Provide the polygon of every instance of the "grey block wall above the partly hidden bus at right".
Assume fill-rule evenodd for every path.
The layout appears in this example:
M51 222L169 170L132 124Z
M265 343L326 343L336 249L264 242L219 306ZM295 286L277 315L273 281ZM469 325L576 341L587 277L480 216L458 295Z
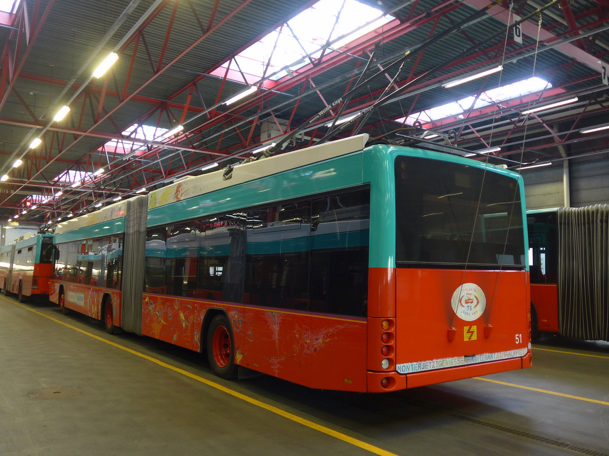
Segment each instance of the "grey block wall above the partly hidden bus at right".
M561 165L523 171L527 209L565 206ZM609 161L569 163L571 207L609 203Z

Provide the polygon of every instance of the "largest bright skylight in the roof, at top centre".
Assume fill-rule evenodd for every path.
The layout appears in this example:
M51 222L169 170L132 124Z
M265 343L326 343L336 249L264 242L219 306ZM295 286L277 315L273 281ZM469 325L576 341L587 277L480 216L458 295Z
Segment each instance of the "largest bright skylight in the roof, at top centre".
M340 38L332 47L344 46L393 19L392 16L382 16L380 10L357 0L345 0L341 9L342 3L336 0L320 0L290 19L287 22L289 27L284 25L273 30L262 40L222 64L214 74L224 75L224 69L229 68L234 71L234 80L251 84L253 81L244 81L239 70L256 78L278 72L270 78L277 80L287 74L280 71L282 68L290 66L290 69L295 71L308 63L306 55L319 57L326 43Z

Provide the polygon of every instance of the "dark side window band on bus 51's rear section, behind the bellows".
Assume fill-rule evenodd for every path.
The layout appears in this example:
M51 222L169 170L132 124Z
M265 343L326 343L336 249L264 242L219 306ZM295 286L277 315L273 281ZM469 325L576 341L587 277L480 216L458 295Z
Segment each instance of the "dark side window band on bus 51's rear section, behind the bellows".
M369 225L366 189L149 229L146 290L365 316Z

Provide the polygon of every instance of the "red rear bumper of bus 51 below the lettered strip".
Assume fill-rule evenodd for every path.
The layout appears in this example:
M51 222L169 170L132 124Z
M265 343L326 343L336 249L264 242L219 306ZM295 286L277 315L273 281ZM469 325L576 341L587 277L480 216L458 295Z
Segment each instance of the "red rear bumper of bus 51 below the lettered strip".
M388 391L416 388L436 383L463 380L481 375L495 374L508 370L523 369L532 366L531 353L522 358L502 359L501 361L483 362L481 364L469 364L459 367L448 367L445 369L430 370L424 372L400 374L393 372L370 372L368 371L368 392L382 393ZM389 388L381 386L381 380L389 377L393 379Z

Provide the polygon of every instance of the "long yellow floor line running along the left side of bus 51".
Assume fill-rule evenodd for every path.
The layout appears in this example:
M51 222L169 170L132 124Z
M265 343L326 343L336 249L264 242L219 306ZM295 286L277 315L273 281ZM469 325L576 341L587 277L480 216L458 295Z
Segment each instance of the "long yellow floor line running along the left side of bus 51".
M8 301L8 300L7 300L7 302L13 303L12 301ZM323 434L337 438L338 440L342 440L346 443L350 443L353 446L357 446L362 449L365 449L373 454L378 454L381 456L397 456L396 454L389 452L389 451L385 451L382 448L376 447L369 443L365 443L364 441L361 441L361 440L357 440L356 438L349 437L348 435L342 434L341 432L338 432L334 429L330 429L329 427L322 426L321 424L317 424L317 423L314 423L313 421L306 420L305 418L301 418L300 416L294 415L293 413L286 412L285 410L281 410L278 407L271 406L269 404L266 404L265 402L258 401L258 399L250 398L250 396L246 396L242 393L231 390L230 388L224 387L220 384L217 384L216 382L210 381L206 378L200 377L198 375L195 375L193 373L190 373L190 372L180 369L178 367L174 367L171 364L167 364L166 362L161 361L160 359L152 358L152 356L148 356L147 354L139 353L139 351L135 351L135 350L132 350L131 348L124 347L123 345L116 344L116 342L111 342L110 340L104 339L104 337L99 337L99 336L96 336L95 334L88 333L87 331L81 330L80 328L77 328L76 326L69 325L68 323L62 322L61 320L57 320L51 316L43 314L42 312L31 309L27 306L21 305L19 303L15 303L15 304L23 307L24 309L32 311L35 314L48 318L49 320L52 320L55 323L59 323L60 325L66 326L66 327L70 328L71 330L78 331L81 334L85 334L86 336L93 337L93 339L100 340L101 342L105 342L106 344L112 345L113 347L120 348L121 350L127 351L128 353L131 353L131 354L135 354L135 356L139 356L140 358L144 358L144 359L147 359L148 361L152 361L155 364L158 364L167 369L171 369L177 373L180 373L181 375L190 377L190 378L192 378L196 381L199 381L201 383L204 383L212 388L215 388L224 393L227 393L235 398L241 399L242 401L249 402L250 404L253 404L254 406L261 407L262 409L268 410L269 412L276 413L276 415L283 416L284 418L287 418L288 420L295 421L295 423L299 423L299 424L302 424L303 426L310 427L311 429L317 430L319 432L322 432Z

